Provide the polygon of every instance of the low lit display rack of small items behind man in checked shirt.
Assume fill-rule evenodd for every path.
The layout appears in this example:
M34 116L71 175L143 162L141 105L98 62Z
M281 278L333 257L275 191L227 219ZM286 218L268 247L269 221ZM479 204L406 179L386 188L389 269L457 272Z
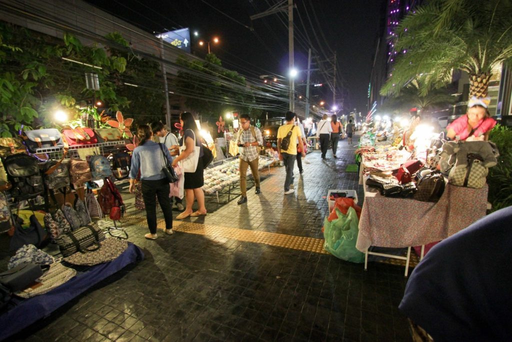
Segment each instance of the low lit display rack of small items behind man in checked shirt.
M273 158L260 155L258 169L268 168L270 175L270 165L274 163ZM250 168L247 169L247 176L251 175ZM231 190L240 182L239 160L238 156L230 157L219 162L210 164L204 170L203 191L206 194L216 194L217 203L219 203L219 193L227 193L228 202L231 198ZM222 192L227 188L227 192Z

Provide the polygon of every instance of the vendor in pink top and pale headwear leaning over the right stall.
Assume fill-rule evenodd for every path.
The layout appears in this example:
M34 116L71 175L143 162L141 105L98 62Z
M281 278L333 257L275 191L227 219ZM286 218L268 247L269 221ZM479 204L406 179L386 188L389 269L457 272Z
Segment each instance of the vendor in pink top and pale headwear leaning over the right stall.
M490 117L489 97L473 96L467 103L467 113L446 127L446 137L454 140L487 140L496 120Z

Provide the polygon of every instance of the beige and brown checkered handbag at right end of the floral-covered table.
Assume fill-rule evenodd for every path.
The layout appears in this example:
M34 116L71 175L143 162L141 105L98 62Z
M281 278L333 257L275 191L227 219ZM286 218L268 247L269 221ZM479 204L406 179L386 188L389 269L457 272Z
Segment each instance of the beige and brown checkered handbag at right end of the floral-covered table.
M467 154L467 167L453 167L448 175L448 183L460 187L480 189L485 186L489 169L483 166L482 157L475 153Z

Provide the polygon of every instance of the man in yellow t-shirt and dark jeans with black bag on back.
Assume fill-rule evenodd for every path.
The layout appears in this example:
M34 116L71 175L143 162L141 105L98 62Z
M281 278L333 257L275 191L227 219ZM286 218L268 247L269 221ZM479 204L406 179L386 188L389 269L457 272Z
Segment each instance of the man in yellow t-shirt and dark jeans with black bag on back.
M290 189L290 186L293 184L293 167L295 166L295 158L297 156L297 138L298 146L303 151L302 156L306 156L306 153L304 152L301 130L293 124L295 113L286 112L285 119L286 124L279 127L278 130L278 154L279 160L283 160L286 168L285 195L287 195L293 193L293 189Z

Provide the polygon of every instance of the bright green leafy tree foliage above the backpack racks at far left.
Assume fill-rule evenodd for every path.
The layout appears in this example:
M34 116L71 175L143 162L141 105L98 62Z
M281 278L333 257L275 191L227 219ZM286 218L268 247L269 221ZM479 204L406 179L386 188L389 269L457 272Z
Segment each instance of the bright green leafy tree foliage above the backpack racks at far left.
M162 112L161 83L155 80L156 63L145 63L129 49L119 33L106 36L110 44L83 46L64 33L62 39L14 25L0 23L0 135L25 129L55 127L53 112L66 108L70 119L82 111L80 104L101 99L112 111L130 117ZM66 59L63 59L66 58ZM81 64L68 61L77 61ZM87 89L85 73L98 75L99 90ZM131 82L129 82L131 81ZM125 83L143 83L127 87ZM126 109L131 109L126 111Z

